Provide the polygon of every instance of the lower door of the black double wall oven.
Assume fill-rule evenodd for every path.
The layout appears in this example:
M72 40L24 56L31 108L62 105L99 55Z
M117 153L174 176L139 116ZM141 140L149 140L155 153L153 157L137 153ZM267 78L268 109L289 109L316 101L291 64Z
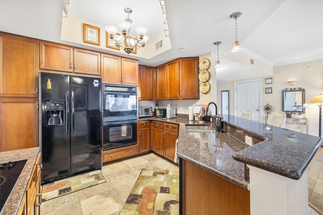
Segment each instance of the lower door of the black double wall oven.
M137 144L137 120L103 122L103 151Z

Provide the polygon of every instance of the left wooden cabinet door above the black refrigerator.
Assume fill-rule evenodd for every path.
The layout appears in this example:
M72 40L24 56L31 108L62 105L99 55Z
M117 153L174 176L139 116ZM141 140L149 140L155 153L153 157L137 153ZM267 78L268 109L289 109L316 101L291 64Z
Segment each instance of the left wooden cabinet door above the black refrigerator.
M40 69L73 73L73 48L50 42L40 42Z

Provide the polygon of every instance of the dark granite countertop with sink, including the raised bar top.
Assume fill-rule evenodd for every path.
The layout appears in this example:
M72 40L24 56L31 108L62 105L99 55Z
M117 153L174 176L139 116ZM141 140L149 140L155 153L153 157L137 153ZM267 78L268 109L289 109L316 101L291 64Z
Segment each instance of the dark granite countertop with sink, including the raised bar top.
M216 173L246 189L245 165L270 171L291 179L300 179L323 139L261 122L224 115L226 126L235 127L260 139L248 147L230 133L189 133L185 124L195 124L182 118L158 117L157 120L179 124L178 156ZM206 125L211 125L209 122Z

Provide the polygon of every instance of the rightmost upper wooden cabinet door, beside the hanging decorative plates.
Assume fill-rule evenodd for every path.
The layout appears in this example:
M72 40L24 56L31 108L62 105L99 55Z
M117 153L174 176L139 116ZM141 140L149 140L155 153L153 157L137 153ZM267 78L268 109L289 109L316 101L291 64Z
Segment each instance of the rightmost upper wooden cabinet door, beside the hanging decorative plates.
M180 98L199 99L198 57L180 59Z

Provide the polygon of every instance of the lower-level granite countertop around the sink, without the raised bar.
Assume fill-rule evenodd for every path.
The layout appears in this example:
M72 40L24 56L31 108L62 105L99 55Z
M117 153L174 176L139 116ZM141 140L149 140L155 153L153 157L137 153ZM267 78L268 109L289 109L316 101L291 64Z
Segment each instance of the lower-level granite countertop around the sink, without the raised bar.
M243 163L233 160L232 156L247 148L237 138L229 133L199 133L187 132L186 124L198 124L183 118L147 117L139 120L156 120L179 125L177 155L210 172L248 189L249 182L245 181ZM201 125L201 124L198 124ZM212 126L210 122L203 125Z

